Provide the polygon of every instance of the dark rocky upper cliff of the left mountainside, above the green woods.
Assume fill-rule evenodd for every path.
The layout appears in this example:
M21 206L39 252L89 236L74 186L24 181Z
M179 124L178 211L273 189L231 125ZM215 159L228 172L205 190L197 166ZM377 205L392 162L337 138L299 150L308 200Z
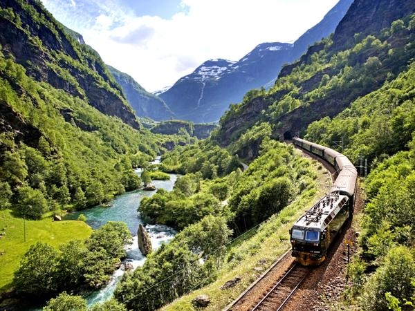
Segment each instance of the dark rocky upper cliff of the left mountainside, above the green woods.
M24 28L17 28L8 18L0 19L0 45L3 53L26 68L26 74L39 82L63 89L68 94L87 100L101 113L119 117L140 129L133 110L122 95L120 86L109 73L98 53L66 32L64 26L44 11L38 1L4 0L1 8L19 12ZM33 19L22 6L32 6L44 22ZM46 26L46 23L48 26ZM39 38L43 46L34 43ZM58 56L57 56L58 55ZM56 68L59 67L59 70Z

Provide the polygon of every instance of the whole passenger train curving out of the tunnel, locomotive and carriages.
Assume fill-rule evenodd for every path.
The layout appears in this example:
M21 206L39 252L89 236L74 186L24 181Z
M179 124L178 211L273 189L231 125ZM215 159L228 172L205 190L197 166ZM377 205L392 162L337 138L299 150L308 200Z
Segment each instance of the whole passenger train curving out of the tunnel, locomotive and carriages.
M320 265L327 256L335 236L353 215L358 171L342 153L293 138L295 146L326 160L335 168L335 181L329 193L306 211L291 227L291 255L302 265Z

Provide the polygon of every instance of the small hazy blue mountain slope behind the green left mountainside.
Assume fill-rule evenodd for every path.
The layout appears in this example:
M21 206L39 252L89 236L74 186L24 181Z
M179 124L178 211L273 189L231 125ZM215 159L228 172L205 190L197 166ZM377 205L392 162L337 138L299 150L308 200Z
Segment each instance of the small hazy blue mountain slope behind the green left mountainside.
M136 111L138 117L149 117L156 121L169 120L174 117L174 113L170 111L160 97L145 91L145 88L126 73L122 73L111 66L108 66L108 68L124 90L129 104Z

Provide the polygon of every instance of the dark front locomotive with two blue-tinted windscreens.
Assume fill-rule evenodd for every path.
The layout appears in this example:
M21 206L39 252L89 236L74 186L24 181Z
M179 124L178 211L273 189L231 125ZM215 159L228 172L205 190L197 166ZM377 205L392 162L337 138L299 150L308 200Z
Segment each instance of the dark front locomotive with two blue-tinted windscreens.
M302 265L320 265L351 211L349 197L332 192L324 196L290 230L291 256Z

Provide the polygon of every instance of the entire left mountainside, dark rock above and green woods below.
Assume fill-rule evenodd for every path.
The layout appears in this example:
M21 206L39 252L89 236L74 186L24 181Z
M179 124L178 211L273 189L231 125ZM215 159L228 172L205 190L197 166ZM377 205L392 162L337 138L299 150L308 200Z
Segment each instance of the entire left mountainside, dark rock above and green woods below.
M0 205L26 218L140 186L163 151L98 53L37 0L0 2ZM170 140L172 138L169 138Z

